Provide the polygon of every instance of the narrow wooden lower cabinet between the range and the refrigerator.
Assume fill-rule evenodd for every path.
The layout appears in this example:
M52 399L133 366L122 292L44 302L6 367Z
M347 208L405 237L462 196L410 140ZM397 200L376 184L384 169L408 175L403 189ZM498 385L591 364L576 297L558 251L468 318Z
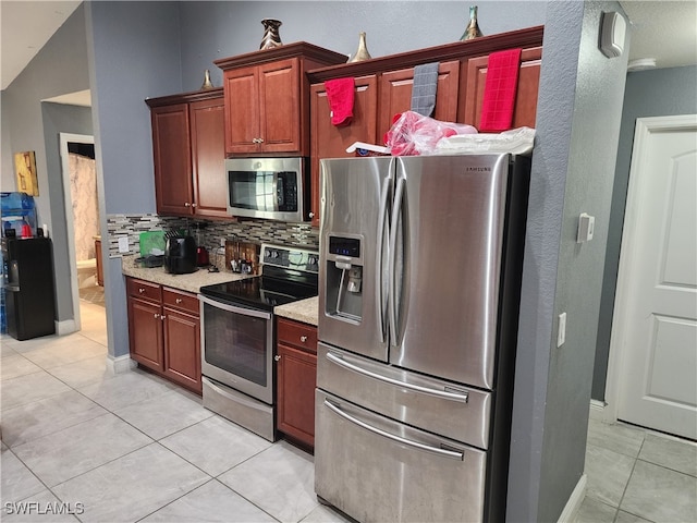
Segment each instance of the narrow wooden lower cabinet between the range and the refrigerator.
M315 447L317 327L277 319L277 426L308 449Z

